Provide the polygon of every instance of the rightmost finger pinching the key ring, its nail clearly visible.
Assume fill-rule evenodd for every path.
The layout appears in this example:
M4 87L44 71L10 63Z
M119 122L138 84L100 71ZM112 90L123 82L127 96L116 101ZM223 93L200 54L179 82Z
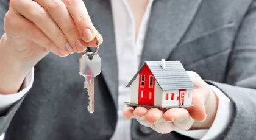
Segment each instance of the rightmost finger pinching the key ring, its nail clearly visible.
M80 36L85 42L89 42L89 46L96 46L95 35L99 36L99 44L102 43L101 35L96 31L90 16L88 15L84 1L82 0L62 0L66 5L70 15L74 19Z

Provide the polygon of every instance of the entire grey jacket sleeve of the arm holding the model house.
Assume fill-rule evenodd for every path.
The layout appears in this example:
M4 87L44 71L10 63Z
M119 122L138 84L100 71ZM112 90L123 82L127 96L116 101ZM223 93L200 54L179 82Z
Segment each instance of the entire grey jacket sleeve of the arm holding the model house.
M221 89L235 105L232 122L219 139L256 139L255 0L240 24L226 72L224 83L207 81Z

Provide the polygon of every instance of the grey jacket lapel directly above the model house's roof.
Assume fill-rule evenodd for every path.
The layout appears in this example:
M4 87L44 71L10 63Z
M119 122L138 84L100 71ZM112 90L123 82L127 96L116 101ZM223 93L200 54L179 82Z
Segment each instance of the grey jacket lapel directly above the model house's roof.
M202 0L155 0L144 42L144 61L167 59L190 26Z

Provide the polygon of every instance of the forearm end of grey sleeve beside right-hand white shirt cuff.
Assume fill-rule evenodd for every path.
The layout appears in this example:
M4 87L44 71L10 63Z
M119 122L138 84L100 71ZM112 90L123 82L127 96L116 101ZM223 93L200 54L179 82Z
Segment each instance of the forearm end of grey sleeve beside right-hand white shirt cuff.
M210 85L219 88L233 103L233 118L229 123L226 131L224 131L219 139L255 139L256 125L256 90L250 88L243 88L239 86L232 86L225 83L213 82L211 80L205 80ZM246 131L244 130L246 128ZM232 136L229 138L227 136Z

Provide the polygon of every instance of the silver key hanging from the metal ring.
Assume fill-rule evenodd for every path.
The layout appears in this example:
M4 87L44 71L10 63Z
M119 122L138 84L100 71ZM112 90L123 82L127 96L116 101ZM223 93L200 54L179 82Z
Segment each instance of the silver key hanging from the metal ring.
M85 77L84 88L88 90L88 111L94 112L94 78L101 73L101 57L98 54L90 56L93 52L87 52L79 60L79 73Z

